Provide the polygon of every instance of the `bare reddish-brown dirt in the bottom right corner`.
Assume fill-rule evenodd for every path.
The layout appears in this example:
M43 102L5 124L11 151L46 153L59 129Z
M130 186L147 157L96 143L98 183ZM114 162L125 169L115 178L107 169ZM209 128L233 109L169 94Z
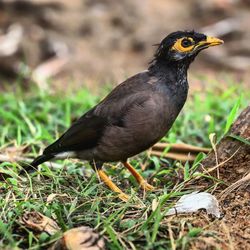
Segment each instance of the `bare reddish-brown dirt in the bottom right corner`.
M247 170L246 170L247 171ZM216 191L223 191L218 188ZM212 220L207 214L187 219L194 227L205 227L191 249L248 249L250 246L250 189L243 187L219 200L222 216Z

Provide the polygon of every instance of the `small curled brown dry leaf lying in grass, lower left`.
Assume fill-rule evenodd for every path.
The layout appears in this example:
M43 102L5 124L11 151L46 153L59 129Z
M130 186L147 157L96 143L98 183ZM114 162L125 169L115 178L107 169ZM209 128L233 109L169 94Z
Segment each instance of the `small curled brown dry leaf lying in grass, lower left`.
M54 220L36 211L26 212L21 218L21 223L35 231L46 232L50 235L60 231L60 227Z

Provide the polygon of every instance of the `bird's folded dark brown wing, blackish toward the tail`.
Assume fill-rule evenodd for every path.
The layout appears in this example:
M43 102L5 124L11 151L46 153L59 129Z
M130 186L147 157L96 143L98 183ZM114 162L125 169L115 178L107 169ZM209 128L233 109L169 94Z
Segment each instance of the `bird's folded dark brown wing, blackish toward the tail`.
M150 84L148 74L140 73L118 85L102 102L92 108L53 144L44 154L86 150L95 147L105 128L122 126L125 113L134 105L140 105L149 97L143 94Z

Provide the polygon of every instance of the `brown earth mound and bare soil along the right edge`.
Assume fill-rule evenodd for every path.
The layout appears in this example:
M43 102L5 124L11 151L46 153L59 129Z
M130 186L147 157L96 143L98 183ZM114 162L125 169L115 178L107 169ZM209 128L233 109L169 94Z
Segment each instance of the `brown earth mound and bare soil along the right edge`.
M242 111L229 134L249 140L249 118L250 106ZM192 248L248 249L250 246L250 178L246 177L250 174L250 146L226 137L217 145L216 152L218 162L225 163L210 172L210 176L222 181L213 191L219 200L222 218L211 222L207 216L204 217L204 214L195 216L192 224L196 227L205 226L207 232L203 233L197 242L193 242ZM202 165L205 169L216 166L215 153L211 152L203 160ZM236 182L239 184L235 185ZM206 189L214 183L212 179L201 179L196 184Z

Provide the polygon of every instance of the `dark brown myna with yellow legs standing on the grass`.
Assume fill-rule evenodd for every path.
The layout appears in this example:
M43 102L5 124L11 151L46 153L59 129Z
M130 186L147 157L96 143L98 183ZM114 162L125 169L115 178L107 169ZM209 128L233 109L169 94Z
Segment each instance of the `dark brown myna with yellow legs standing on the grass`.
M190 64L200 51L222 43L195 31L170 33L158 44L147 70L117 85L30 165L66 158L89 161L100 180L126 202L130 197L102 168L104 163L122 162L140 187L154 190L128 159L167 134L187 99Z

